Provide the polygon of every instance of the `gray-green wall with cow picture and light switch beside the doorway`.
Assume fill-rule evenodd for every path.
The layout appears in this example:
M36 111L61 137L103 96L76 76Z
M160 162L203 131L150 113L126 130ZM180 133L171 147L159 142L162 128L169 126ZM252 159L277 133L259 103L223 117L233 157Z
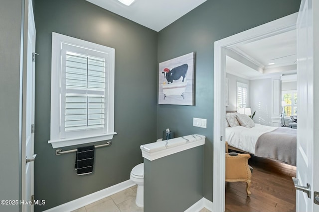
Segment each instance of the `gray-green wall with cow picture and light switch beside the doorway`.
M158 62L195 52L195 106L158 105L157 135L169 127L177 136L206 136L204 197L213 191L214 42L299 10L300 0L207 0L159 33ZM207 129L192 126L207 119Z

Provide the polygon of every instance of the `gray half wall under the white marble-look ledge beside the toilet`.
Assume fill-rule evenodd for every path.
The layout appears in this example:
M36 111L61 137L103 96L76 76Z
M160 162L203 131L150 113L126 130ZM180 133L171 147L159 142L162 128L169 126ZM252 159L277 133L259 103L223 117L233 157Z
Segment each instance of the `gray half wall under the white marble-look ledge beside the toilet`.
M183 212L203 197L203 146L144 159L144 169L144 212Z

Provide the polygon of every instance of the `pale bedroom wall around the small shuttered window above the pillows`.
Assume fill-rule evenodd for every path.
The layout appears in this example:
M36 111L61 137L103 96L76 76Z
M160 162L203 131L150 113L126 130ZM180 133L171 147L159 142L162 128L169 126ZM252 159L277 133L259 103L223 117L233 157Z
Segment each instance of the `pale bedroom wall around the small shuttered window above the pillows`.
M247 107L250 107L250 80L226 73L226 78L229 79L229 90L228 90L228 107L226 107L226 111L237 110L237 82L242 82L248 84L248 99L247 99Z

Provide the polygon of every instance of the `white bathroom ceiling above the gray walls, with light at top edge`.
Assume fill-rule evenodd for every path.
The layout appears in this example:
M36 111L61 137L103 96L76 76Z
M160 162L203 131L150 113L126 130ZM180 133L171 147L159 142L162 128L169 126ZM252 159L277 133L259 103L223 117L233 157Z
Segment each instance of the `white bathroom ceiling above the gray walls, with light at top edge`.
M135 0L126 6L118 0L87 0L157 32L206 0Z

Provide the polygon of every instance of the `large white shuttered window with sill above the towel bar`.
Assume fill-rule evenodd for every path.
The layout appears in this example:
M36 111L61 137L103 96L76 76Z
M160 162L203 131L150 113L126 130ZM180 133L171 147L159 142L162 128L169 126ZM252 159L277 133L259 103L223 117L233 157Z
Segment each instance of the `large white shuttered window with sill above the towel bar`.
M111 140L114 132L114 49L52 34L53 148Z

